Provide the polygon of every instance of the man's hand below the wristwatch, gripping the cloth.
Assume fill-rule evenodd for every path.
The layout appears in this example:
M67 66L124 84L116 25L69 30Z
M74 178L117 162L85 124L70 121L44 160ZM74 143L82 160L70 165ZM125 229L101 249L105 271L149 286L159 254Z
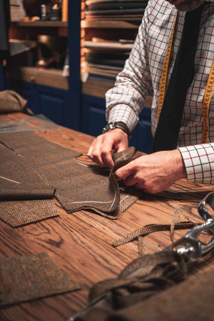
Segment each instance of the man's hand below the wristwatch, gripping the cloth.
M102 167L113 167L111 151L122 152L128 148L128 135L119 128L99 135L91 144L87 156Z

